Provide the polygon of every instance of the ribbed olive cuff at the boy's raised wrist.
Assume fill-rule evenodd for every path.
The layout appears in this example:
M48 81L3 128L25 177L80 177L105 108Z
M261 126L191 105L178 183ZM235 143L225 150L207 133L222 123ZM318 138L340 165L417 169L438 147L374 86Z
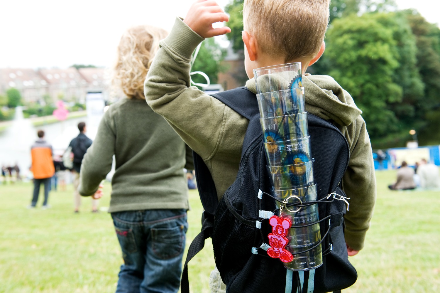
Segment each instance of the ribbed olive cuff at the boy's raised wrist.
M182 19L176 17L171 32L161 41L161 45L166 45L185 59L191 59L195 48L203 40L205 38L191 30Z

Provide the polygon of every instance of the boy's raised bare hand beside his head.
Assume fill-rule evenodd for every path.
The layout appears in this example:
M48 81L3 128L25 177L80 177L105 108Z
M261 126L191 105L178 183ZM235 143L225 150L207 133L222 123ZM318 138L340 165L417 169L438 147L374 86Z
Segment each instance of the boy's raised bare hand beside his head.
M191 5L187 16L183 19L183 22L185 22L191 30L194 30L194 32L204 38L230 33L231 29L227 26L213 28L212 24L214 22L225 21L229 21L229 17L223 12L215 0L197 0Z

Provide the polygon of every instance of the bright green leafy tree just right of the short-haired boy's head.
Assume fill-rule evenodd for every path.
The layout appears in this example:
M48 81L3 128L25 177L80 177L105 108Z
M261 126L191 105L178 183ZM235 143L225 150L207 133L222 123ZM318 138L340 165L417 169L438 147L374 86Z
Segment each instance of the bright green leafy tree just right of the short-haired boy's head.
M363 111L373 143L390 134L403 143L422 120L417 104L424 85L416 53L416 40L401 14L352 14L335 19L327 32L327 73Z

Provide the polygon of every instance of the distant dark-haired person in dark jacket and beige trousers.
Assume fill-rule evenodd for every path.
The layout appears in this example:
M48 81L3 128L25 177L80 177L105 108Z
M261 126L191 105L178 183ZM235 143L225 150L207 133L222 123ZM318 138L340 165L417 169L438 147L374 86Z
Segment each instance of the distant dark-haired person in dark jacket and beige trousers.
M79 213L79 208L81 205L81 196L78 192L78 185L80 184L80 171L81 171L81 163L84 158L87 149L92 145L92 140L85 135L87 131L87 126L85 122L78 123L78 130L80 133L77 137L73 138L70 141L69 147L71 148L71 152L73 154L73 200L75 204L75 213ZM98 212L98 200L92 199L92 212Z

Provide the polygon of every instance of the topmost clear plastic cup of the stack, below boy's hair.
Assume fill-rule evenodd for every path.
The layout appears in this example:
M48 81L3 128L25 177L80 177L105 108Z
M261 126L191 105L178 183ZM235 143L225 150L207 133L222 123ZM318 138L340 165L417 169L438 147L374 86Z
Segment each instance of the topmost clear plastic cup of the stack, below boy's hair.
M253 70L257 93L302 87L301 63L287 63Z

